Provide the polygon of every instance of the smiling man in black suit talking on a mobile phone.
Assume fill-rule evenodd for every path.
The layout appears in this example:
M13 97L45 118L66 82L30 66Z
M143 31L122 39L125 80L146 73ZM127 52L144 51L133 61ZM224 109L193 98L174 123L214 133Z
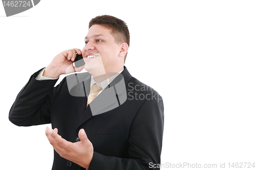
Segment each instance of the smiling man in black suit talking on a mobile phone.
M159 169L150 165L160 164L163 101L124 66L130 45L126 23L97 16L85 42L82 51L64 51L30 77L10 121L52 124L46 129L54 148L52 169ZM86 62L79 68L73 66L76 53ZM60 75L82 68L88 72L67 76L54 87Z

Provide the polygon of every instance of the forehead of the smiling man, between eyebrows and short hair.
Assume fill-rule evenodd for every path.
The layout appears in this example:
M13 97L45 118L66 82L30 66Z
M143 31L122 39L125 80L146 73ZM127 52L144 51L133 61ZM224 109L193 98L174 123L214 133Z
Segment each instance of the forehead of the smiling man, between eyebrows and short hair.
M107 29L100 25L93 25L90 27L85 39L95 38L95 37L113 37L110 29ZM114 37L113 37L114 38Z

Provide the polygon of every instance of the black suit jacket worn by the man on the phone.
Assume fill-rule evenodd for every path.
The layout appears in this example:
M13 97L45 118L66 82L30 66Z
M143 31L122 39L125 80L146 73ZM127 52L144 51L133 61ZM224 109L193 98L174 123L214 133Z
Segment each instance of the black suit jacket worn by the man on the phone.
M57 80L35 79L39 71L30 77L11 107L9 119L13 124L51 123L53 129L58 128L62 138L71 142L79 141L78 131L84 129L94 147L89 170L159 169L150 167L160 164L164 114L162 98L153 88L132 77L124 67L121 74L127 99L122 104L118 101L119 106L112 110L93 115L91 104L86 108L87 95L71 95L72 89L88 93L90 81L77 82L72 89L67 83L72 76L91 77L88 72L67 76L54 87ZM112 86L113 83L106 89ZM54 151L52 169L84 168Z

